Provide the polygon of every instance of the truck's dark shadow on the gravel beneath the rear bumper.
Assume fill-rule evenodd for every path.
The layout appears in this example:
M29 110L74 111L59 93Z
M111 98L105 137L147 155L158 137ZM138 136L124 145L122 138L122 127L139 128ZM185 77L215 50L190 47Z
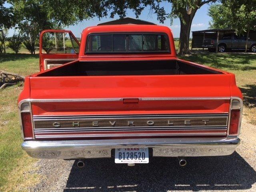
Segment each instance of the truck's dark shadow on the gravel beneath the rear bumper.
M230 156L190 157L185 167L176 158L150 158L149 164L115 164L113 158L72 166L64 192L242 190L256 182L255 170L236 152Z

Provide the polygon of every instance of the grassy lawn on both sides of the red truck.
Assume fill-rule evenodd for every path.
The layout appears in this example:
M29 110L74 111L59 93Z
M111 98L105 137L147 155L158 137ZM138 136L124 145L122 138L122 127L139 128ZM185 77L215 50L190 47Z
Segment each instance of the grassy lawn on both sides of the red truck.
M236 74L236 81L244 94L244 116L256 124L256 55L243 53L215 54L200 52L183 59L206 64ZM0 54L0 70L29 75L39 71L38 55ZM26 186L39 180L33 163L20 144L20 125L17 99L22 84L0 90L0 191L26 191ZM26 178L24 177L24 173Z

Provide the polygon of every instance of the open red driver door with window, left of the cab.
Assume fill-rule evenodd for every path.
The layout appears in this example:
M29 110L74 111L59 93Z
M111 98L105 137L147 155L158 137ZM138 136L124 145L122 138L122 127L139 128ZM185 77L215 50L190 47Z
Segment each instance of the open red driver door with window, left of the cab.
M68 30L44 30L40 33L40 71L78 59L80 43Z

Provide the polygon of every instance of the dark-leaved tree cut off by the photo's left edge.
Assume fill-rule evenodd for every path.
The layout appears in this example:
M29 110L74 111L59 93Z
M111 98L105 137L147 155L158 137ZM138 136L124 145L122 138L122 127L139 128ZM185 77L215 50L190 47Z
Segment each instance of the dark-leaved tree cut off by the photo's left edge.
M6 8L4 6L5 0L0 0L0 32L1 32L1 50L6 53L6 47L5 47L5 41L6 36L5 32L8 31L8 29L13 26L14 24L14 16L12 14L12 7Z

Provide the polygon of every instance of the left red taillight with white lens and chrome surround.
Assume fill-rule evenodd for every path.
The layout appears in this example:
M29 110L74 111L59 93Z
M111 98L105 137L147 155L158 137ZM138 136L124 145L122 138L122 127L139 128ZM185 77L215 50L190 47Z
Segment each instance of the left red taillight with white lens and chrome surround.
M33 138L33 127L31 121L30 103L24 102L19 106L20 109L20 124L22 127L22 133L24 139Z

